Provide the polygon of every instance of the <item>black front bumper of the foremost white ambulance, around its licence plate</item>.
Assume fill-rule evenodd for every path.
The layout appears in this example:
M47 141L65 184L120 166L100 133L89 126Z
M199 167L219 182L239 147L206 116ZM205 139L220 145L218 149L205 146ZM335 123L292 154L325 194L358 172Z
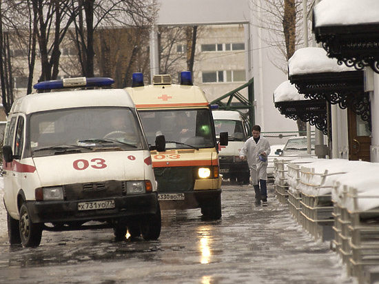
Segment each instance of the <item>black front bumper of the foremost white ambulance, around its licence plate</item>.
M100 210L79 210L78 203L96 200L76 201L26 201L33 223L65 221L105 221L106 219L156 214L158 199L156 192L133 196L110 196L100 200L114 200L114 208ZM98 200L98 201L100 201Z

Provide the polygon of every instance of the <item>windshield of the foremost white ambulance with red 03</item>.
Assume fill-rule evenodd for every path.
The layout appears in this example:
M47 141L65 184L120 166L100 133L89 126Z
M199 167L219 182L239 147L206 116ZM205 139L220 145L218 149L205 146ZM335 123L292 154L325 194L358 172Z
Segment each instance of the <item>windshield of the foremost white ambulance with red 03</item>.
M33 156L104 150L141 150L139 122L130 108L73 108L30 116Z

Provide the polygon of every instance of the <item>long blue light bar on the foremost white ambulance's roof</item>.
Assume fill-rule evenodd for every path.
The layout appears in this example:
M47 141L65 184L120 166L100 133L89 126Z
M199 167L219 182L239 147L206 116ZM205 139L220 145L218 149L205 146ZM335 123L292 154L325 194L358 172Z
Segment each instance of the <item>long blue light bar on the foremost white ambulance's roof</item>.
M77 77L65 78L61 80L43 81L33 85L36 90L54 90L76 87L107 87L114 83L114 80L106 77Z

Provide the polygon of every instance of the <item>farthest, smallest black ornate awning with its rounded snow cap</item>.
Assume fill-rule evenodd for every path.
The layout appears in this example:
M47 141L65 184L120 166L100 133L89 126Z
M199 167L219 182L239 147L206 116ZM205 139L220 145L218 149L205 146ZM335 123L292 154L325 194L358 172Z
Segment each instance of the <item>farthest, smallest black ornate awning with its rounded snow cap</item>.
M274 91L274 105L280 114L289 119L309 122L327 134L327 101L306 99L289 80L284 81Z

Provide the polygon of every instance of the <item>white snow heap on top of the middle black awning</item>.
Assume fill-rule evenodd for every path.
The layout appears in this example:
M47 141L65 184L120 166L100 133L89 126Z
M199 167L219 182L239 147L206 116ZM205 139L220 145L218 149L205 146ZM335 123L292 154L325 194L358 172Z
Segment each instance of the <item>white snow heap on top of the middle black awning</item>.
M288 60L288 76L324 72L355 71L354 67L338 65L337 59L327 57L323 48L300 48Z

